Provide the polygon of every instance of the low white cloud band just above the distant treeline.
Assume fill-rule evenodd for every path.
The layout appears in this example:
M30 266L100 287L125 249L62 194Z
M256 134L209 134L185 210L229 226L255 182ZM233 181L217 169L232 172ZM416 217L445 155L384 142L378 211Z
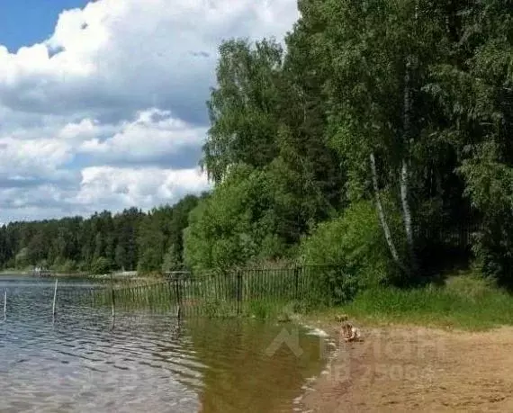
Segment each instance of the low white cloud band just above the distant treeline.
M206 175L198 168L90 166L67 187L62 183L42 183L31 188L0 186L0 209L4 222L31 220L34 216L90 215L94 211L121 211L130 206L149 210L209 188Z

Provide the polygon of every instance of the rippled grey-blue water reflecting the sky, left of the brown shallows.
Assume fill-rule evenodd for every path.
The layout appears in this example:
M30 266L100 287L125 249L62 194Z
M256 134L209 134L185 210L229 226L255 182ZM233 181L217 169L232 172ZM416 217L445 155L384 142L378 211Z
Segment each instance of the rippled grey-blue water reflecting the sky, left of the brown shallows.
M203 365L188 353L191 342L169 315L119 314L112 329L108 310L61 298L54 323L51 285L6 286L7 319L0 325L2 412L199 409L193 388L201 387Z

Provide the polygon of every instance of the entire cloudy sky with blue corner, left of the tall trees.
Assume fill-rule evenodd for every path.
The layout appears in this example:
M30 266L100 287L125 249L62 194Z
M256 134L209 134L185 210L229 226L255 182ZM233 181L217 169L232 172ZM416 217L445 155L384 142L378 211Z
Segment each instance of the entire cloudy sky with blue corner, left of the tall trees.
M198 167L221 40L282 40L296 0L0 0L0 223L144 211Z

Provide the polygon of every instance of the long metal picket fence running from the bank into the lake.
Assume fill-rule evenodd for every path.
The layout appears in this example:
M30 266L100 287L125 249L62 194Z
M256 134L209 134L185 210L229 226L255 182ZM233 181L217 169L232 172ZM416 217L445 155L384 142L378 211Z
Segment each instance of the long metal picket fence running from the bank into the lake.
M249 268L211 274L168 274L163 279L113 279L72 292L74 300L118 310L174 310L180 316L258 315L273 306L311 305L322 300L320 271L334 266ZM62 292L58 292L58 297Z

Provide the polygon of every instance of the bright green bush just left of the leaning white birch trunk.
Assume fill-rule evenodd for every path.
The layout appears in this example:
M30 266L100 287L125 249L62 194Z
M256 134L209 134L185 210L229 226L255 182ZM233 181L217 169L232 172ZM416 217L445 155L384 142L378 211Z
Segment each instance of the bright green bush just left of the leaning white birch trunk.
M354 203L339 218L321 223L300 251L303 264L319 265L315 288L325 301L347 301L361 289L393 281L394 266L371 202Z

